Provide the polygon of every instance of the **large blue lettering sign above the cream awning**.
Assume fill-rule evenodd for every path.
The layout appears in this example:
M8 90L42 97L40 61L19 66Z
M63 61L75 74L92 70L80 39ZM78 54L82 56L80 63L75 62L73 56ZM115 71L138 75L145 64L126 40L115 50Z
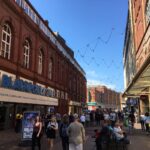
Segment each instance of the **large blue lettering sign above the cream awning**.
M50 89L43 88L39 85L34 85L32 83L23 81L21 79L16 79L15 81L12 81L12 78L7 75L2 76L1 86L4 88L38 94L38 95L42 95L42 96L48 96L48 97L53 96L53 91Z

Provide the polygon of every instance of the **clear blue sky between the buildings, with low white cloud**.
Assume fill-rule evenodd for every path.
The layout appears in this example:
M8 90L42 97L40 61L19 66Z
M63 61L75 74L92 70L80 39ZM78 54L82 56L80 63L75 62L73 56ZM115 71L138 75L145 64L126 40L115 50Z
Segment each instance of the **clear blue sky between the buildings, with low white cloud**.
M128 0L30 0L66 40L89 85L123 91L123 44Z

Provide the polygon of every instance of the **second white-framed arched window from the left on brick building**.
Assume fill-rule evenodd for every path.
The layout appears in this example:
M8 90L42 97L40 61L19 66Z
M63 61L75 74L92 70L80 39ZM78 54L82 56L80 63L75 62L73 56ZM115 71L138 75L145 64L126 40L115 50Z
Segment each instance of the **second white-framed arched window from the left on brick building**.
M25 68L29 68L29 64L30 64L30 43L28 40L25 40L25 44L24 44L24 55L23 55L23 66Z

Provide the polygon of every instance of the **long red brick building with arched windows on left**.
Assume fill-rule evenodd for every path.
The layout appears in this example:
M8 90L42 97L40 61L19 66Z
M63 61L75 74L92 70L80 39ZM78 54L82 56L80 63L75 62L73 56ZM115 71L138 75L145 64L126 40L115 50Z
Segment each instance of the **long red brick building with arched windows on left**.
M85 100L85 73L65 40L28 0L0 0L0 123L23 108L78 112Z

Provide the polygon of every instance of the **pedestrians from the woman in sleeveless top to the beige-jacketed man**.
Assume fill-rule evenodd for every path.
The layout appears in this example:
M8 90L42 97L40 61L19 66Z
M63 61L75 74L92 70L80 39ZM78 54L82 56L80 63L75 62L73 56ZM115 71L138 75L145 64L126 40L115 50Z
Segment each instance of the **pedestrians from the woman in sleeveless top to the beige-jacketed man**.
M48 150L53 149L57 133L60 135L63 150L83 150L85 123L86 117L84 114L79 116L76 113L71 113L61 116L57 113L55 115L43 115L42 119L37 116L33 125L32 150L35 149L35 145L41 150L43 132L47 137Z

